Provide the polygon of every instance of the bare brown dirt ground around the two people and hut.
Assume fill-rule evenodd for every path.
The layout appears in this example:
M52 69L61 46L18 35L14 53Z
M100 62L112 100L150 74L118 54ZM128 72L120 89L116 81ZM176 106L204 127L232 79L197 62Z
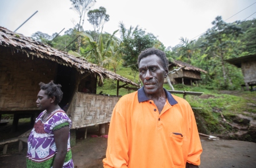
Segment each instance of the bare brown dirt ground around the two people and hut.
M26 126L23 125L23 126ZM0 128L1 135L5 133ZM105 137L92 137L97 135L96 127L88 129L87 139L77 140L72 147L72 158L75 167L100 168L108 139ZM228 168L228 167L256 167L256 143L237 140L208 140L201 136L203 154L200 168ZM0 146L0 167L26 167L26 145L22 152L18 152L18 142L8 146L7 154L3 155L3 145Z

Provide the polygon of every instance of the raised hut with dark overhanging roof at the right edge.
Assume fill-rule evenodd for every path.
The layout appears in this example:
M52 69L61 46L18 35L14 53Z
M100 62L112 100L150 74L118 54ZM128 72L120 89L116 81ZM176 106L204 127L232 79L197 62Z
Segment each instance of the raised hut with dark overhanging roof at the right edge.
M242 88L245 86L246 90L249 91L250 86L256 85L256 54L227 59L225 61L242 69L243 80L245 81L244 84L241 84Z

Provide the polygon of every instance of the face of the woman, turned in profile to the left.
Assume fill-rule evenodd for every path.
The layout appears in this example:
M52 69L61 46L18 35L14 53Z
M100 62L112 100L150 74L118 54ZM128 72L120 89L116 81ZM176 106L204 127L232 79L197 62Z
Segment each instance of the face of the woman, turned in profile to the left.
M38 100L36 100L36 106L39 107L40 110L46 110L49 106L51 106L53 100L51 97L48 97L45 94L46 91L40 90L38 93Z

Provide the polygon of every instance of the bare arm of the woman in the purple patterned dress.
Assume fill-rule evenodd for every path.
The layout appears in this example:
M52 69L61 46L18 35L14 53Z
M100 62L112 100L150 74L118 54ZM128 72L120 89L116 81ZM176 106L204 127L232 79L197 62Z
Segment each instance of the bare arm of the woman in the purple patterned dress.
M53 168L62 168L67 154L69 126L53 131L57 153L53 162Z

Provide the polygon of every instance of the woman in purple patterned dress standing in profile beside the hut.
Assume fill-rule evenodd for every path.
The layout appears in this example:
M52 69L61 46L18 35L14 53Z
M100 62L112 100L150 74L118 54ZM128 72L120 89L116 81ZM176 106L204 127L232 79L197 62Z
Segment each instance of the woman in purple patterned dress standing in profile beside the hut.
M61 85L53 81L39 85L36 106L44 111L36 118L28 137L27 168L71 168L71 120L58 105L63 96Z

